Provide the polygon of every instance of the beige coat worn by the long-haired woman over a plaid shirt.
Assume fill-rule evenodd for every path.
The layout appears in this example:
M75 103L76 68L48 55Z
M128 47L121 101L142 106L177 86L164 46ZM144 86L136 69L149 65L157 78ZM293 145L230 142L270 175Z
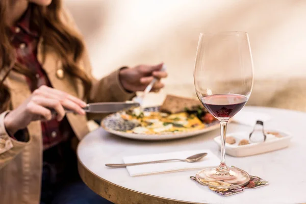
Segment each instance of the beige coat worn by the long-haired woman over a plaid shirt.
M68 27L75 30L71 18L63 13L63 21ZM119 83L118 71L106 78L96 81L93 79L93 88L89 98L84 98L84 89L80 80L65 74L63 79L56 75L62 69L59 56L52 47L46 47L43 57L43 39L38 43L38 60L46 71L48 78L55 89L65 91L89 102L97 101L124 101L131 99L133 94L124 91ZM91 66L87 54L80 61L87 74L91 76ZM1 75L1 74L0 74ZM10 88L11 107L16 109L31 95L31 91L24 76L11 72L5 81ZM0 203L1 204L36 204L40 200L41 174L42 174L42 136L39 121L31 122L28 126L29 142L19 142L11 139L4 127L4 117L7 112L0 114ZM67 115L68 121L79 140L87 133L87 120L90 115Z

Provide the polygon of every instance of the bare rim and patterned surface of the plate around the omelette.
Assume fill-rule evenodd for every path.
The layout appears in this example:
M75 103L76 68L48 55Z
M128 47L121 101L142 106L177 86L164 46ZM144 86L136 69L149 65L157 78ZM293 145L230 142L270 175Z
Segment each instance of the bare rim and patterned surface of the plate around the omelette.
M151 107L145 109L145 111L158 111L158 110L159 107ZM215 121L213 123L207 124L204 129L190 131L190 132L163 133L163 134L152 134L152 135L126 133L123 132L123 130L131 130L133 129L135 124L129 121L124 121L121 118L120 112L117 112L104 118L101 121L101 126L107 132L125 138L131 138L136 140L169 140L169 139L191 137L203 134L218 129L220 125L219 121Z

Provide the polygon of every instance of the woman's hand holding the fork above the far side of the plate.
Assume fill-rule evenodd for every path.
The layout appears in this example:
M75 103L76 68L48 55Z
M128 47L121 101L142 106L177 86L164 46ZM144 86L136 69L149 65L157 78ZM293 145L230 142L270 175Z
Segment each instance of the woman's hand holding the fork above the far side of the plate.
M151 66L151 65L139 65L134 68L125 68L120 71L120 82L122 86L132 92L143 91L146 86L154 79L157 81L152 91L158 92L164 87L164 84L160 82L160 79L167 77L166 71L161 71L163 63Z

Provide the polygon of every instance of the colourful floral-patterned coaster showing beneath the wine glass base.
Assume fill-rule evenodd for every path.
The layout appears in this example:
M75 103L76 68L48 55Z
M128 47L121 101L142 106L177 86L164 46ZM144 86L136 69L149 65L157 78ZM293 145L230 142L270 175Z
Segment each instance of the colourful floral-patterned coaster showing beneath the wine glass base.
M190 176L190 179L196 181L194 176ZM196 181L197 182L197 181ZM212 191L218 193L222 196L230 196L235 195L238 193L242 193L245 189L254 189L259 188L268 185L269 182L261 179L260 177L256 175L251 175L251 179L249 183L245 186L239 187L239 188L216 188L216 187L209 187Z

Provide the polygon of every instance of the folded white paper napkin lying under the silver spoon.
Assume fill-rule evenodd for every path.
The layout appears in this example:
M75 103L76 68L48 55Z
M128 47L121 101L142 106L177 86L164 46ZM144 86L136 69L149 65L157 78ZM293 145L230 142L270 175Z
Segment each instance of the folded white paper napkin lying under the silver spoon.
M198 162L187 163L187 162L166 162L166 163L157 163L157 164L143 164L137 166L128 166L126 167L127 171L131 176L139 175L151 175L157 173L168 173L176 171L186 171L193 169L201 169L210 166L218 166L220 160L208 149L201 150L190 150L190 151L177 151L169 152L163 154L154 154L154 155L140 155L140 156L130 156L124 157L124 163L136 163L136 162L148 162L156 160L166 160L166 159L186 159L195 154L207 152L207 156L202 158Z

